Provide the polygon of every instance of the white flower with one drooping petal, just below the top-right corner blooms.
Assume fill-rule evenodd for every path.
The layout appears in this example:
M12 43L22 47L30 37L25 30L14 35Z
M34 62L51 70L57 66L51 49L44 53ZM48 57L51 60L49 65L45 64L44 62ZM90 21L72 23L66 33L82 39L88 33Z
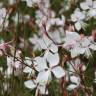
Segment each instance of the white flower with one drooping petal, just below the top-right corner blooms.
M78 8L71 15L71 20L73 22L75 22L75 28L78 31L81 28L85 28L86 27L86 24L83 22L84 19L85 19L85 14L83 12L81 12Z

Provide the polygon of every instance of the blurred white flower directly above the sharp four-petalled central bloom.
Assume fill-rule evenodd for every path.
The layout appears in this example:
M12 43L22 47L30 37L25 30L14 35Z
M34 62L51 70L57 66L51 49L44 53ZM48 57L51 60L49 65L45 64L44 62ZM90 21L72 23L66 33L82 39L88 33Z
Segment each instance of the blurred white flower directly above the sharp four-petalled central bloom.
M54 39L53 39L54 40ZM34 45L34 51L36 50L49 50L53 53L58 52L58 46L53 43L45 34L42 37L34 35L29 38L29 41Z

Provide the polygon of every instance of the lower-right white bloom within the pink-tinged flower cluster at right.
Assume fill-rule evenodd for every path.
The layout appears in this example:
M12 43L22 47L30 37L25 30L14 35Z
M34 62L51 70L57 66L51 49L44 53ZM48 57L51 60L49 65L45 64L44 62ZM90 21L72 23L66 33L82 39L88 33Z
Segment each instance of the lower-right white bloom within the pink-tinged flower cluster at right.
M72 58L77 57L80 54L85 55L86 57L92 56L90 51L91 42L88 40L88 38L83 38L77 45L78 46L75 46L70 50Z

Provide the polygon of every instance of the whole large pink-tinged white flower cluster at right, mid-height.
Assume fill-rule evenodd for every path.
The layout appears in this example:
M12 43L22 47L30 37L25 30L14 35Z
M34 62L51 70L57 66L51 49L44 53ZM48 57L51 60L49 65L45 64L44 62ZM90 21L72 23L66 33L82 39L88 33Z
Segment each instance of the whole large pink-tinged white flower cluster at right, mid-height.
M63 47L70 51L72 58L75 58L80 54L92 56L90 49L95 50L96 45L88 37L81 38L76 32L66 32Z

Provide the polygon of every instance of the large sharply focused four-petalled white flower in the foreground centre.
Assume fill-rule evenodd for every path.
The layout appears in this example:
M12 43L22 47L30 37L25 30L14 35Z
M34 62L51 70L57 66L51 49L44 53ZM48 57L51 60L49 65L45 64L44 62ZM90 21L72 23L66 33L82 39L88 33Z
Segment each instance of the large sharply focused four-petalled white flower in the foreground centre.
M34 59L34 65L39 74L37 76L38 82L48 83L50 82L52 75L54 74L56 78L61 78L65 75L63 68L61 68L59 63L58 53L52 54L48 53L45 57L36 57Z

